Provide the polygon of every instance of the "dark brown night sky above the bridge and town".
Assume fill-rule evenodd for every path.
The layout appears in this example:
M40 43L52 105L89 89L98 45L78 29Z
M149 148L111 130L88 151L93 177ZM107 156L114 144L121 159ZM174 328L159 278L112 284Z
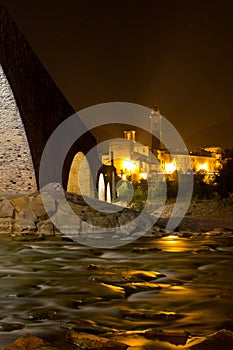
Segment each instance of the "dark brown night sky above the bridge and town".
M77 111L157 103L184 139L233 117L232 0L5 4Z

